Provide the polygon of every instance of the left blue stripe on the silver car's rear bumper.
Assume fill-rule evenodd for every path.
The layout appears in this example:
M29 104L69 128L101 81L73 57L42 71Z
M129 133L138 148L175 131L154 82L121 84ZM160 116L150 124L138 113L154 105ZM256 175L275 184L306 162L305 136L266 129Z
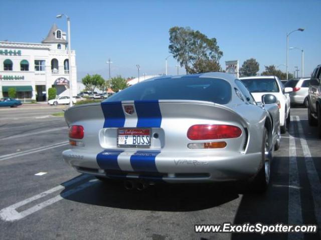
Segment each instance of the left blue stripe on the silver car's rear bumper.
M122 151L104 150L97 154L96 160L101 169L121 170L117 157Z

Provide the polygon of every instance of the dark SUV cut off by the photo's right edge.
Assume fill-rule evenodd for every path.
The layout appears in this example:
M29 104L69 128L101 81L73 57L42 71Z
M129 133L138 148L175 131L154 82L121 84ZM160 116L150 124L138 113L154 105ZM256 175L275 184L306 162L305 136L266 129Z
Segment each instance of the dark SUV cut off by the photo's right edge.
M312 73L307 95L307 117L310 126L317 125L318 135L321 137L321 64Z

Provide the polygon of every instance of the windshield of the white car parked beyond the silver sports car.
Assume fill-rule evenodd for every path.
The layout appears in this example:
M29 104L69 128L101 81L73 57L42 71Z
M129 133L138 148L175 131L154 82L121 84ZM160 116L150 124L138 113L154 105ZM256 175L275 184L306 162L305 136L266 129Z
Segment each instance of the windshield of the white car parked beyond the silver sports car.
M274 78L241 79L250 92L278 92L279 87Z

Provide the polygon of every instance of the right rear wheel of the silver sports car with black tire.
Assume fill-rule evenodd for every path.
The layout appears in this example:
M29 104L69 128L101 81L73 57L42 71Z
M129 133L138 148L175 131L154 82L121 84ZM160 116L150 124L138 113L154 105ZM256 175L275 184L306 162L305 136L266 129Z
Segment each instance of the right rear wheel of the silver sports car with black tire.
M272 151L269 146L268 132L267 129L264 128L263 139L262 139L262 162L260 166L259 172L255 175L250 183L250 189L252 192L263 193L266 191L269 181L270 181L270 163L271 159L269 159L269 155L271 153L265 154L266 150L268 152Z

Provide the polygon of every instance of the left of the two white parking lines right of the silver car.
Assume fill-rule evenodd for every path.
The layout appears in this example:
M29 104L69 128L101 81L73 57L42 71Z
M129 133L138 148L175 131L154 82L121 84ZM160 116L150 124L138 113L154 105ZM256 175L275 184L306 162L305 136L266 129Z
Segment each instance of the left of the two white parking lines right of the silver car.
M289 127L289 203L288 203L288 224L302 224L302 207L300 196L300 182L296 161L296 148L293 117ZM288 239L302 239L302 233L288 234Z

